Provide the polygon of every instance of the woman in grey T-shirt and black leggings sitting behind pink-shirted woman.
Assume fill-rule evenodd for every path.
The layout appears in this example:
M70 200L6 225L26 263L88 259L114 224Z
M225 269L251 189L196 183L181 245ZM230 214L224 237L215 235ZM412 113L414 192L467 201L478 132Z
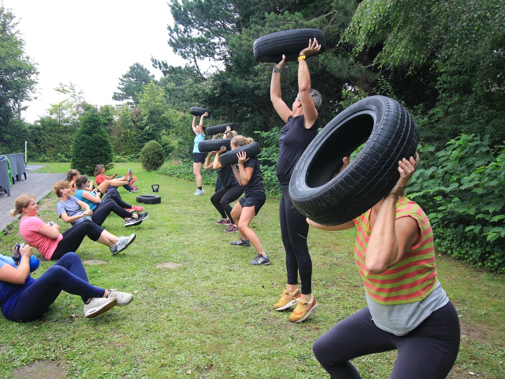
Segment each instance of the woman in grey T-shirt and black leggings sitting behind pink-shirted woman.
M86 178L84 176L84 178ZM87 178L86 178L87 179ZM84 184L83 184L84 185ZM60 198L58 204L56 204L56 212L58 216L65 222L71 223L73 226L79 224L83 221L85 216L89 216L91 221L96 225L102 226L105 219L111 212L114 212L119 217L124 218L125 226L140 225L143 220L142 216L138 213L131 213L121 208L112 198L108 198L104 201L98 203L98 205L91 210L89 205L76 197L70 196L69 183L66 180L59 180L55 183L53 191ZM80 191L78 189L76 192ZM96 196L94 193L84 193L83 196ZM98 199L95 197L94 199ZM93 203L94 204L94 203ZM128 205L128 204L127 204ZM85 210L83 211L82 208Z

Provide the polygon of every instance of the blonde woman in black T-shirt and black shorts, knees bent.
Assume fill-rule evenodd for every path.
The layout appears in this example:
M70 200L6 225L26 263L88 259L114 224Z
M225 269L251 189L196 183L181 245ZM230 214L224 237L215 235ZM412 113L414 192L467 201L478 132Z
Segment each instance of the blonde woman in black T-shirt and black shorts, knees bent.
M237 135L231 140L231 150L245 146L254 142L252 138L246 138L243 135ZM233 241L231 244L235 246L254 246L258 251L255 259L249 262L254 266L260 264L270 264L268 255L261 246L260 239L256 233L249 228L249 223L252 218L258 214L263 204L267 200L265 189L263 188L263 177L261 176L260 162L256 157L247 158L245 152L237 153L238 157L238 172L235 165L232 165L233 172L239 184L244 186L244 194L231 211L231 217L235 220L240 232L238 241ZM216 157L219 163L219 157Z

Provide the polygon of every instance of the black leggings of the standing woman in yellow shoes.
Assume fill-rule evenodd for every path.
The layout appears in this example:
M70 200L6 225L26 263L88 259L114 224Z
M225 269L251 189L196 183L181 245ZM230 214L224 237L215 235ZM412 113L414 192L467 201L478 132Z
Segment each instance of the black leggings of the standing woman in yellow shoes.
M306 217L298 212L291 203L289 183L281 184L281 191L279 219L282 243L284 250L286 250L287 283L297 285L299 271L301 293L309 295L312 292L312 259L307 246L309 224Z

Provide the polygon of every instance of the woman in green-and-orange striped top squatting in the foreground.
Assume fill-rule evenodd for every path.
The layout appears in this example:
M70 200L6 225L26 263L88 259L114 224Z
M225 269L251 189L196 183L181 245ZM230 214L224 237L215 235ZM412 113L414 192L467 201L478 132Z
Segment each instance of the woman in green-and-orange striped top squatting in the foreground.
M398 162L394 188L360 217L336 226L307 220L324 230L356 229L355 261L368 306L313 345L333 379L361 378L350 359L390 350L398 350L390 379L442 379L456 361L460 323L436 276L431 225L405 197L418 163L417 153L416 159Z

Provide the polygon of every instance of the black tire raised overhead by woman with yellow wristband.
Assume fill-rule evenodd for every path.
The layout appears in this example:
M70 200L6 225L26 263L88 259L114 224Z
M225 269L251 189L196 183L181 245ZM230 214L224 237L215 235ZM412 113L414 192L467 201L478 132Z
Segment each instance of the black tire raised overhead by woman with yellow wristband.
M258 38L252 45L252 52L258 62L278 63L282 55L286 62L296 61L303 50L309 46L309 39L317 39L321 50L311 57L326 51L326 35L319 29L291 29L270 33Z

